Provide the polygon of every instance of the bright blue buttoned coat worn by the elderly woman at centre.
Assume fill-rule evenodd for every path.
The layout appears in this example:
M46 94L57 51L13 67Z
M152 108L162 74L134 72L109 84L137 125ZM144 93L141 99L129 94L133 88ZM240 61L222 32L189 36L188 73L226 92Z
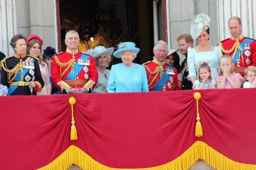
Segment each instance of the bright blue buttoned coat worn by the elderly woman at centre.
M145 68L135 63L131 67L126 67L124 63L113 65L108 79L107 91L108 93L148 91Z

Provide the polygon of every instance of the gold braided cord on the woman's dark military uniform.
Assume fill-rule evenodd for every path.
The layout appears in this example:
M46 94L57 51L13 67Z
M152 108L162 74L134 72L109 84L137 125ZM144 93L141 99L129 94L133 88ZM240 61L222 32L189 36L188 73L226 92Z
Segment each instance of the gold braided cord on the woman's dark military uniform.
M20 71L20 68L22 68L22 62L19 62L14 68L12 68L12 70L9 70L9 69L7 68L7 66L6 66L6 59L9 59L9 58L11 58L11 57L14 57L14 56L6 57L5 59L3 59L3 60L1 61L1 67L0 67L1 69L3 68L3 70L6 71L7 74L9 73L9 75L8 75L8 81L7 81L8 84L10 84L11 82L13 82L13 80L17 77L17 74L18 74L18 72ZM12 79L9 80L9 78L10 78L13 74L15 74L14 77L12 77Z

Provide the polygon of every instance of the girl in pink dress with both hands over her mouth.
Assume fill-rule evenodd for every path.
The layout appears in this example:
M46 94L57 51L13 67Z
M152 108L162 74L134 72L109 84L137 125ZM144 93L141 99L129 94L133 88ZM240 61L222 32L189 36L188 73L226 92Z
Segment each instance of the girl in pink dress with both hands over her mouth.
M241 75L234 73L233 59L224 55L219 59L218 75L215 77L217 88L240 88Z

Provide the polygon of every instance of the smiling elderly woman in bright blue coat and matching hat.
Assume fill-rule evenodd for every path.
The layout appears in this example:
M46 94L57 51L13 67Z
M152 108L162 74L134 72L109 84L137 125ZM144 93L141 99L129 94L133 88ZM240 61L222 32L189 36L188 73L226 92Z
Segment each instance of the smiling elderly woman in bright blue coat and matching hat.
M116 58L121 58L122 63L111 67L108 79L108 93L144 92L148 91L148 79L145 68L133 63L140 49L133 42L121 42L118 50L113 53Z

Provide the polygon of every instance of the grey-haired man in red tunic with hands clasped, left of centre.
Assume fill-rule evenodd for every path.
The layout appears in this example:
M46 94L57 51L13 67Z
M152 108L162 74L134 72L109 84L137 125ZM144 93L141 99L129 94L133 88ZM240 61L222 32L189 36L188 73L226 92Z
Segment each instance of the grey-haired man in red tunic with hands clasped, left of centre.
M66 34L67 50L52 57L52 83L63 94L91 93L98 82L93 57L78 51L79 35L71 30Z

